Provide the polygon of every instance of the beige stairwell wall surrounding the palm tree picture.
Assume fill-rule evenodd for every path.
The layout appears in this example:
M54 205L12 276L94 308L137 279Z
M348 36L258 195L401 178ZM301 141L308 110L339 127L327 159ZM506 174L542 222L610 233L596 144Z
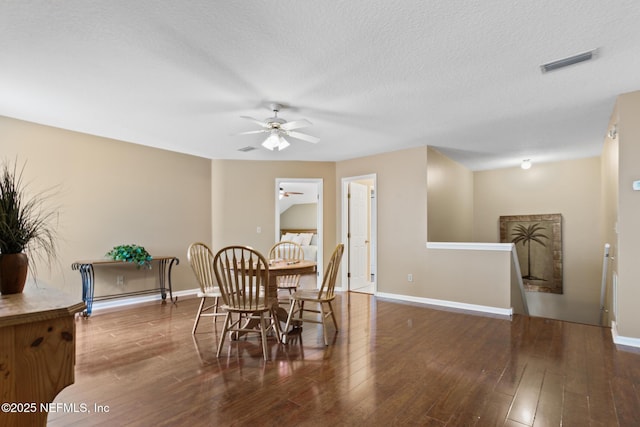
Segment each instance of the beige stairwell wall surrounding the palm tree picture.
M598 323L603 242L600 159L474 174L474 240L498 242L501 215L560 213L564 294L528 292L532 315Z

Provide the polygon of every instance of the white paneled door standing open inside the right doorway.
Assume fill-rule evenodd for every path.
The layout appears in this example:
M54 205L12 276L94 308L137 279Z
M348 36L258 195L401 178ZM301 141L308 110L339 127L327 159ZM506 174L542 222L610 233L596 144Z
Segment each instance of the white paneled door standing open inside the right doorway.
M369 190L366 185L349 183L349 289L367 286Z

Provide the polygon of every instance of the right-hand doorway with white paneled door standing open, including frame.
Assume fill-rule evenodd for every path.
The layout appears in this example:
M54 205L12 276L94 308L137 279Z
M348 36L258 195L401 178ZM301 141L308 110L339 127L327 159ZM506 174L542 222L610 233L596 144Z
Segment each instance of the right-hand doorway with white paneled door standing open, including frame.
M342 288L375 294L377 290L376 175L342 179Z

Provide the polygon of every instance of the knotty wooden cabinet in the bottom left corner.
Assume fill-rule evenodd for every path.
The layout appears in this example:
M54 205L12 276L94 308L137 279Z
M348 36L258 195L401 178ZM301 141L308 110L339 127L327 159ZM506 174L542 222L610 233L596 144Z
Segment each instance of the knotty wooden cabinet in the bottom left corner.
M46 404L74 381L80 299L54 289L0 295L0 425L45 426Z

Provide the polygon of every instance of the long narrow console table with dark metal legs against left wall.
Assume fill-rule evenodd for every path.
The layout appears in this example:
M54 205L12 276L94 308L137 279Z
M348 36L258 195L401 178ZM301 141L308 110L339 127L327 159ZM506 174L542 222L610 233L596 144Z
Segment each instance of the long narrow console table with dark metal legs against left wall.
M173 297L173 291L171 288L171 269L173 268L174 264L175 265L179 264L180 260L172 256L159 256L159 257L154 256L151 262L155 262L155 261L158 262L158 279L160 283L159 288L145 289L145 290L133 291L133 292L123 292L121 294L104 295L99 297L93 296L93 291L95 288L95 274L93 271L93 267L95 265L112 265L112 266L117 266L118 264L128 265L129 263L124 261L115 261L112 259L96 259L96 260L89 260L89 261L76 261L73 264L71 264L71 268L73 270L78 270L82 278L82 301L84 301L84 303L87 305L87 308L86 310L84 310L82 315L85 317L91 316L91 309L94 301L121 298L121 297L133 296L133 295L150 294L158 291L160 291L160 294L162 295L162 301L165 301L167 299L167 290L168 290L169 298L171 302L175 304L175 302L178 300L178 297L175 297L175 298Z

